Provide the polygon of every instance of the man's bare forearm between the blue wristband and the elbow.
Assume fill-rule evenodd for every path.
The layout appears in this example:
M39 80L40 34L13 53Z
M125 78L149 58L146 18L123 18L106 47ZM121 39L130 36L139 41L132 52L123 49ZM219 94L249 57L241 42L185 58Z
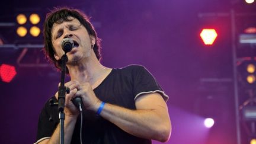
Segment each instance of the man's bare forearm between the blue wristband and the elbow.
M162 113L162 112L161 112ZM129 110L117 105L105 104L100 114L131 135L161 142L169 137L170 122L167 114L156 110Z

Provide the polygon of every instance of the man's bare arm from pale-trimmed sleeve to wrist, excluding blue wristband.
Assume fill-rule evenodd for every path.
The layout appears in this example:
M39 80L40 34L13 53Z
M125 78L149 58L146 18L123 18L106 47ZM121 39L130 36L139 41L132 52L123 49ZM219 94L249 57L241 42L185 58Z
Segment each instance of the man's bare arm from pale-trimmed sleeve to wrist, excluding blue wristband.
M98 101L92 109L97 111L100 104ZM136 99L136 109L106 103L100 116L131 135L167 142L171 135L171 121L162 96L156 92L140 95Z

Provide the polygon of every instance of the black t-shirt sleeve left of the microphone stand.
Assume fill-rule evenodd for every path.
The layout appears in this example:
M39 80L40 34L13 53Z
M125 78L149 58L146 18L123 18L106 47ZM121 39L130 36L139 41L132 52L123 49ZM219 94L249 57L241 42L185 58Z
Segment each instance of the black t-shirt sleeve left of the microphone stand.
M56 100L56 99L55 99ZM57 124L59 123L59 119L56 116L56 106L52 108L52 120L50 121L50 103L47 101L47 103L44 105L43 110L41 110L40 116L39 116L39 122L37 125L37 138L36 143L41 142L44 139L49 139L54 130L56 129ZM34 143L35 144L35 143Z

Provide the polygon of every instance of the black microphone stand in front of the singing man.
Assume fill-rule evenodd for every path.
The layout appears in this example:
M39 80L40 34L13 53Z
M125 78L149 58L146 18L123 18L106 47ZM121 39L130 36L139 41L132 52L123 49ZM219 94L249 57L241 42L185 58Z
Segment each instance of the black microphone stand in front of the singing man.
M68 62L68 56L63 55L61 57L61 76L60 87L58 89L58 110L59 110L59 123L60 123L60 144L64 144L64 120L65 120L65 95L69 94L69 88L65 87L65 74L66 74L66 62Z

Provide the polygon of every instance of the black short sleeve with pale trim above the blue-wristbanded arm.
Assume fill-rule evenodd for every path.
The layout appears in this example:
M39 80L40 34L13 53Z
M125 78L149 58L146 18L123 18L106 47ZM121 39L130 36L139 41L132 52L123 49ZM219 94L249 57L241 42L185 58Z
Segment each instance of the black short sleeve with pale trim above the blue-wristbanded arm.
M153 92L161 94L165 101L169 98L153 75L143 66L137 66L136 71L134 72L133 92L135 94L135 100L139 95Z

